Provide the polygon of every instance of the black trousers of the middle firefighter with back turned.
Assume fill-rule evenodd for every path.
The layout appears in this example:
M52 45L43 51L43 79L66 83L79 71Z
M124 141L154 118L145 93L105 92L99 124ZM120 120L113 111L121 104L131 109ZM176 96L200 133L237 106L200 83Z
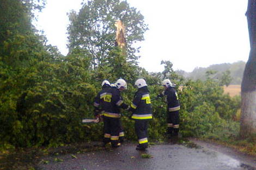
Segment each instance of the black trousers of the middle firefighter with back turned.
M148 119L135 119L135 133L139 146L148 147Z

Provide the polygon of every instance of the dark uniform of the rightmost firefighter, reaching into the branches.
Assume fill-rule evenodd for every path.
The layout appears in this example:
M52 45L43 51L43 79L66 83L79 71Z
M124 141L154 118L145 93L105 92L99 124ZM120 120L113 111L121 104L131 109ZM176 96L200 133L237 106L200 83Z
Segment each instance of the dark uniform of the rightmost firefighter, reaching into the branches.
M179 110L180 102L174 87L169 86L165 91L167 110L167 134L178 136L179 133Z

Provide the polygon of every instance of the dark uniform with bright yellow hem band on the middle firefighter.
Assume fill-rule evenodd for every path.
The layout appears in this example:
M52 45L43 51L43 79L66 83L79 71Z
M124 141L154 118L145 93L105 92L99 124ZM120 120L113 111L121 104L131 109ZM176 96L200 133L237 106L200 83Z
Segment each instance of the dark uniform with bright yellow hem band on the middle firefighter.
M144 150L148 148L148 121L152 118L152 108L147 86L141 87L135 93L130 111L133 112L131 118L135 119L135 133L138 137L136 149Z

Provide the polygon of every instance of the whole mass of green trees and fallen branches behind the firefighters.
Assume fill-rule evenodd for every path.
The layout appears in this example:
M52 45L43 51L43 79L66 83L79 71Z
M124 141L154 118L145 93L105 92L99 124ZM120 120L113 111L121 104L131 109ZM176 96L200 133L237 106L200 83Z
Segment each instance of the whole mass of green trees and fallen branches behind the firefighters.
M131 103L135 80L147 81L151 98L163 91L161 81L176 84L181 103L180 129L184 137L235 138L239 133L240 97L223 94L211 76L186 80L172 62L162 61L164 71L148 73L137 65L133 47L147 31L143 15L119 0L91 0L79 12L71 11L69 53L64 56L32 25L34 11L44 1L5 0L0 3L0 145L1 147L59 146L101 140L102 123L83 124L93 117L93 99L101 81L127 81L122 92ZM115 47L116 20L126 26L126 54ZM209 73L210 75L210 73ZM216 83L217 82L217 83ZM183 86L182 91L179 86ZM163 140L166 103L153 100L150 140ZM126 138L135 140L133 121L122 111Z

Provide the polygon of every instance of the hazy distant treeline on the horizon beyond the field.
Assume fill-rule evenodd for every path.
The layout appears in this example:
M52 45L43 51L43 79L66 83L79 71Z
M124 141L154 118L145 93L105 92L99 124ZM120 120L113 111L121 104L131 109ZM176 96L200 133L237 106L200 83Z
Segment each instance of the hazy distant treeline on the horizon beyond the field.
M241 85L243 71L245 70L245 64L246 62L244 61L237 61L231 64L223 63L210 65L209 67L197 67L194 68L192 72L185 72L183 70L177 70L175 72L179 75L182 75L186 79L192 80L205 80L205 74L207 71L215 71L215 73L212 76L212 78L214 79L221 79L223 74L228 73L229 76L231 77L230 84Z

